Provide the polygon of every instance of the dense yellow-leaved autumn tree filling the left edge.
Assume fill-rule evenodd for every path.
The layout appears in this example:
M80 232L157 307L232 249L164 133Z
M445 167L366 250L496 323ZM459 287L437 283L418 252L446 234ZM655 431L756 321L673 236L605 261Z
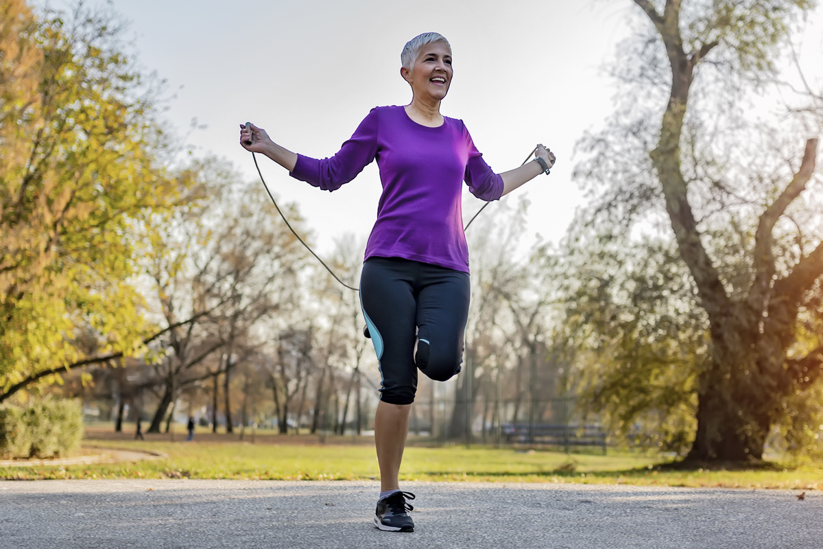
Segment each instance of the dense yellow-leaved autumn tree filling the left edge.
M130 283L142 224L189 188L109 12L0 1L0 401L158 334ZM78 345L94 334L91 347Z

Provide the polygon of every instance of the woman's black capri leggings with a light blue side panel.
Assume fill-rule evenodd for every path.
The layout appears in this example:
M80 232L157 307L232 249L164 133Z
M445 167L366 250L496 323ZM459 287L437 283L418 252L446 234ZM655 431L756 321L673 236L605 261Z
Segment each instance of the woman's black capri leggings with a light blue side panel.
M402 258L365 261L360 305L379 362L380 400L414 402L417 368L435 381L460 371L470 293L467 272Z

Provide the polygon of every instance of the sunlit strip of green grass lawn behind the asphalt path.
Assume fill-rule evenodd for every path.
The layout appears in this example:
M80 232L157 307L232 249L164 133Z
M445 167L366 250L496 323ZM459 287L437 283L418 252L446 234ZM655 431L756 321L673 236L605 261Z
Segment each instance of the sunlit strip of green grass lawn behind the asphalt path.
M136 463L0 468L0 479L240 478L369 480L378 477L374 448L339 444L249 444L88 440L86 444L162 452L168 458ZM642 486L723 486L823 489L823 467L777 464L757 470L672 470L654 454L563 454L463 446L407 448L402 480L608 483Z

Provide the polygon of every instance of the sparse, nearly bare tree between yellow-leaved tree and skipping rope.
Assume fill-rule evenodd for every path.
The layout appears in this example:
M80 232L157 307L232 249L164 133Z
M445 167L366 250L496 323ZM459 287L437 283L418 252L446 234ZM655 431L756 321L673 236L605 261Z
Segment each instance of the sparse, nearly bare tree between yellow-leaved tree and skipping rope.
M292 299L305 257L270 212L249 206L249 197L252 204L265 199L259 188L239 184L237 174L214 159L198 164L198 178L207 189L207 202L152 220L156 237L146 263L152 305L169 326L181 318L196 320L171 328L159 340L164 356L154 367L161 396L150 432L160 430L183 388L212 377L216 389L220 375L226 429L232 432L231 372L266 341L258 334L258 323ZM216 369L205 370L217 351Z

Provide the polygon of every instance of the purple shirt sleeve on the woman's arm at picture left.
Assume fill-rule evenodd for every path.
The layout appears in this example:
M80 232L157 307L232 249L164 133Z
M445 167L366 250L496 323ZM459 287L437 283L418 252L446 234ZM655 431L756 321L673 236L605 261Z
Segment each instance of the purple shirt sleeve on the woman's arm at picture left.
M365 166L374 161L378 149L379 115L377 109L363 119L355 133L342 144L331 158L318 160L297 155L291 177L305 181L324 191L333 191L355 179Z

